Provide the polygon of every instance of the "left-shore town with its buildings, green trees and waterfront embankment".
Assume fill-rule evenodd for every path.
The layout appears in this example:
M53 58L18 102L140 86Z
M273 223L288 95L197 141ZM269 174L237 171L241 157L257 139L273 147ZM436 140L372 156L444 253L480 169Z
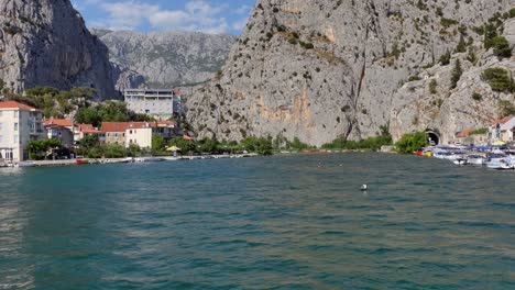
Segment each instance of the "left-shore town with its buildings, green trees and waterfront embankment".
M143 121L85 123L78 122L88 120L80 116L81 108L75 119L45 118L43 110L24 102L0 101L0 167L251 157L255 154L246 147L259 150L259 138L251 138L253 143L246 147L227 143L220 150L216 148L221 146L219 142L197 142L176 121L183 113L178 90L130 89L123 96L124 101L114 107L127 108Z

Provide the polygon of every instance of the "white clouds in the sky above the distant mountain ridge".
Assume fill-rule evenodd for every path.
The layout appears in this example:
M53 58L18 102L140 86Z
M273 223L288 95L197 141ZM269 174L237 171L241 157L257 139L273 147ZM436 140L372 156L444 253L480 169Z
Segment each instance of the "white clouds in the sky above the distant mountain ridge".
M223 13L229 11L243 14L250 8L242 5L230 11L228 4L211 4L205 0L190 0L180 10L162 9L158 4L143 3L141 0L118 0L117 2L100 2L100 0L84 0L84 3L97 3L108 16L90 21L95 27L111 30L136 30L150 25L151 29L165 31L172 29L201 31L206 33L224 33L242 27L241 20L228 22ZM240 18L238 18L240 19Z

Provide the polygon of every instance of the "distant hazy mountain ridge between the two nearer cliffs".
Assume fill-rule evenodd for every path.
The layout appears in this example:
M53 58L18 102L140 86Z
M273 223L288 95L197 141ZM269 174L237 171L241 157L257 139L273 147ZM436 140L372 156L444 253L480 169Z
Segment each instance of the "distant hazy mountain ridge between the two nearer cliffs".
M205 82L222 67L237 40L228 34L92 30L109 47L119 89Z

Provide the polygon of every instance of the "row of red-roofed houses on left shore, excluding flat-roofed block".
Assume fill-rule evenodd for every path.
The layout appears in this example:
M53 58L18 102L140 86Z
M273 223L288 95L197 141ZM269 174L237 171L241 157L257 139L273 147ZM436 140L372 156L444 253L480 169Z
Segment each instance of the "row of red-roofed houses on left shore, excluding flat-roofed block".
M151 148L155 134L165 141L182 136L175 121L105 122L96 129L69 119L44 119L42 111L15 101L0 102L0 161L28 159L30 141L57 138L73 150L84 137L92 135L100 143Z

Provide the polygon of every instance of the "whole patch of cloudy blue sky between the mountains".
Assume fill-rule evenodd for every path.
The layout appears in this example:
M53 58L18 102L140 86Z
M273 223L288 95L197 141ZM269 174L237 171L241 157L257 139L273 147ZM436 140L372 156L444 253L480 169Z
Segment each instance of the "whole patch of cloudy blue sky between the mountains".
M72 0L88 27L240 34L255 0Z

